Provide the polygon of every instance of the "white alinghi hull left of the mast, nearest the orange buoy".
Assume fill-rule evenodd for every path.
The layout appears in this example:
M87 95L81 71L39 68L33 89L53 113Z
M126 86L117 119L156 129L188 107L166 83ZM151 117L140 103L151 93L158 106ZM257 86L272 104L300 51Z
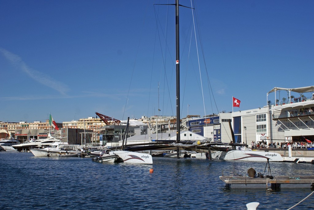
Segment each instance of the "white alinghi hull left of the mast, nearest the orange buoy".
M117 150L110 151L109 155L119 155L120 162L124 163L153 164L152 156L146 153Z

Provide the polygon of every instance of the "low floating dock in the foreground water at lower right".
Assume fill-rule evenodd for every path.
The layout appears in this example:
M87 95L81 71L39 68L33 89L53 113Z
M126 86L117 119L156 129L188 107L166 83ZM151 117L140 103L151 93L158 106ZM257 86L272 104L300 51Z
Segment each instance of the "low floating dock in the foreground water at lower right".
M311 188L314 186L314 176L274 176L271 178L250 178L248 176L219 176L220 180L230 188Z

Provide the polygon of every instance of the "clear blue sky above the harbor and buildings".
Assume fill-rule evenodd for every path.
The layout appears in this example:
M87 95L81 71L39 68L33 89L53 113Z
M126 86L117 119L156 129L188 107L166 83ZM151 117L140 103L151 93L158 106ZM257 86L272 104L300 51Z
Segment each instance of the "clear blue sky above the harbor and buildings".
M168 1L0 0L0 121L175 115L174 6L154 3ZM192 11L180 8L182 117L314 85L314 1L192 4L199 55Z

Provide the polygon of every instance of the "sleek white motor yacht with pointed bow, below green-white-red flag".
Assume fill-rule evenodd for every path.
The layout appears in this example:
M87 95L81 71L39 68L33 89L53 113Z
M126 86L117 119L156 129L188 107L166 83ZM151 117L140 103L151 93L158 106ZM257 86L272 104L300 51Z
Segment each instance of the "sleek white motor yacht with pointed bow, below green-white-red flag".
M60 142L60 139L48 136L48 138L46 139L35 139L25 142L23 144L13 145L13 147L18 151L26 151L29 150L29 148L45 148L53 144L54 142Z

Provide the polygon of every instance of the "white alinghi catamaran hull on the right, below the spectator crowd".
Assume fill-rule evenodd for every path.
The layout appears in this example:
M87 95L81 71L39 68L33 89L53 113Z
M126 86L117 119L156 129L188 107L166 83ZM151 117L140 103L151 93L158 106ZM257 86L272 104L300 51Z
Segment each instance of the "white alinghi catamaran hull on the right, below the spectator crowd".
M212 159L218 160L242 160L242 161L265 161L282 162L283 158L279 153L250 151L250 150L230 150L228 152L212 152Z

